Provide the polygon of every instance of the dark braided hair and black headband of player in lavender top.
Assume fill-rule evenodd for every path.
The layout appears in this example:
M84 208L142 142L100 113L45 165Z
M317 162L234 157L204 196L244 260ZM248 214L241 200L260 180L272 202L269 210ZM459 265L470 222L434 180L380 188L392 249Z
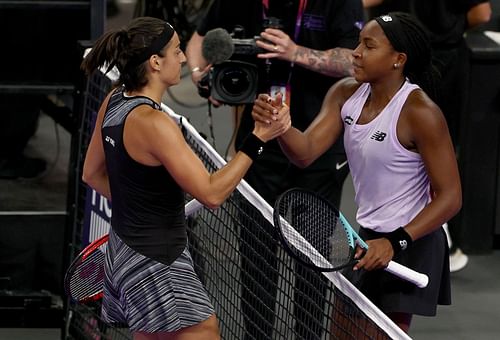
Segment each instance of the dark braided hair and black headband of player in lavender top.
M406 54L403 75L436 100L440 74L432 62L431 41L426 28L417 18L403 12L391 12L374 20L382 27L392 47Z

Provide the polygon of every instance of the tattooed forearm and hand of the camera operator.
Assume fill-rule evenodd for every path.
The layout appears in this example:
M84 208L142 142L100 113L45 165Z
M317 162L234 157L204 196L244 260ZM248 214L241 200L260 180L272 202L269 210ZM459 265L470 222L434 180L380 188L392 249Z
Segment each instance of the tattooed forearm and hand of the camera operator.
M268 28L261 33L264 41L257 41L257 45L268 53L259 54L259 58L278 58L293 62L332 77L352 75L352 50L336 47L326 51L313 50L299 46L283 31Z

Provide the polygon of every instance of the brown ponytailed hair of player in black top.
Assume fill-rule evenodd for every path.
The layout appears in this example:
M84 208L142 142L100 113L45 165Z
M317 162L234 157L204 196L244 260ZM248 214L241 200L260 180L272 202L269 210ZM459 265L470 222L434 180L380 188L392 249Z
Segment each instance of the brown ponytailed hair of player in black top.
M120 72L118 85L127 91L141 89L147 84L145 61L159 54L174 35L173 27L157 18L138 17L128 26L104 33L85 57L81 69L87 75L101 66L105 73L114 66Z

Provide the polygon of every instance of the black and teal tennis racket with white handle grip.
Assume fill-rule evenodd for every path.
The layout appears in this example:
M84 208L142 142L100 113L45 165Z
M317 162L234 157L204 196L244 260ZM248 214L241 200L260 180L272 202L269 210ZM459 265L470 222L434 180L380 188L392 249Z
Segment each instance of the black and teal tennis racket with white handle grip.
M274 224L286 251L304 265L322 272L353 266L356 243L368 245L350 226L342 213L314 192L290 189L274 205ZM426 287L429 278L391 261L386 271Z

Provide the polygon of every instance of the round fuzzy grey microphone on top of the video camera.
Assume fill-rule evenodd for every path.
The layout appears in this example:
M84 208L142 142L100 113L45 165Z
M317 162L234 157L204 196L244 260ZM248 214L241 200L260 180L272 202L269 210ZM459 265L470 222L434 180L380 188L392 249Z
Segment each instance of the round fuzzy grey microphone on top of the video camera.
M212 65L228 60L234 52L231 35L223 28L214 28L207 32L201 45L201 53Z

